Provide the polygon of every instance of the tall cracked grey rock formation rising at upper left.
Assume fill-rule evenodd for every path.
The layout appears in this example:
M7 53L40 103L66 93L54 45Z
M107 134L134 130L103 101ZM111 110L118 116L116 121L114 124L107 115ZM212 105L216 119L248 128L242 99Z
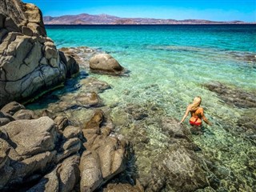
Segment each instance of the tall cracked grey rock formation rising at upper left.
M46 37L38 7L0 0L0 106L49 90L78 73L74 58Z

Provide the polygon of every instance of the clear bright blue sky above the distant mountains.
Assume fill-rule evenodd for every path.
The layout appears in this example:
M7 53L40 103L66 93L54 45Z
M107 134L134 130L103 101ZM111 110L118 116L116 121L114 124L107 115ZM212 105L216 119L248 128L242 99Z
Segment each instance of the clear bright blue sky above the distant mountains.
M111 14L129 18L208 19L256 21L256 0L24 0L44 16Z

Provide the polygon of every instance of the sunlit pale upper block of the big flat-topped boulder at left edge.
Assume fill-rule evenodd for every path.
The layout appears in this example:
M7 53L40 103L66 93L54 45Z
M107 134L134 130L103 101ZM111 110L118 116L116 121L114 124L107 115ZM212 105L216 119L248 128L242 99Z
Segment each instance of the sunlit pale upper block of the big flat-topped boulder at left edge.
M57 127L48 117L10 122L0 130L15 144L18 155L24 157L54 150L57 139Z

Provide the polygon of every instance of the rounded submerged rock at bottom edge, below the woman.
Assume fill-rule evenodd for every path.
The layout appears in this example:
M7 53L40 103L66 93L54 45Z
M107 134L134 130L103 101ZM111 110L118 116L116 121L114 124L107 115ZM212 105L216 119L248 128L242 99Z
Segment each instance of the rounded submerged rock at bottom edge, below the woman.
M160 155L153 164L154 169L152 178L157 180L151 180L150 186L158 187L159 190L162 185L174 191L194 191L208 186L201 160L194 151L180 145L171 145L168 154ZM161 176L158 177L159 174Z

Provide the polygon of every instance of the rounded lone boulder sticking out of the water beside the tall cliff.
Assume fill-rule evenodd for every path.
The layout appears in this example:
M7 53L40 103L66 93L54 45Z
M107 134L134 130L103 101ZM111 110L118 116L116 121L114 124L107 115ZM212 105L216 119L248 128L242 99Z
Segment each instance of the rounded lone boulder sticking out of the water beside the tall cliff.
M95 54L90 58L90 70L101 74L124 73L124 68L110 54Z

